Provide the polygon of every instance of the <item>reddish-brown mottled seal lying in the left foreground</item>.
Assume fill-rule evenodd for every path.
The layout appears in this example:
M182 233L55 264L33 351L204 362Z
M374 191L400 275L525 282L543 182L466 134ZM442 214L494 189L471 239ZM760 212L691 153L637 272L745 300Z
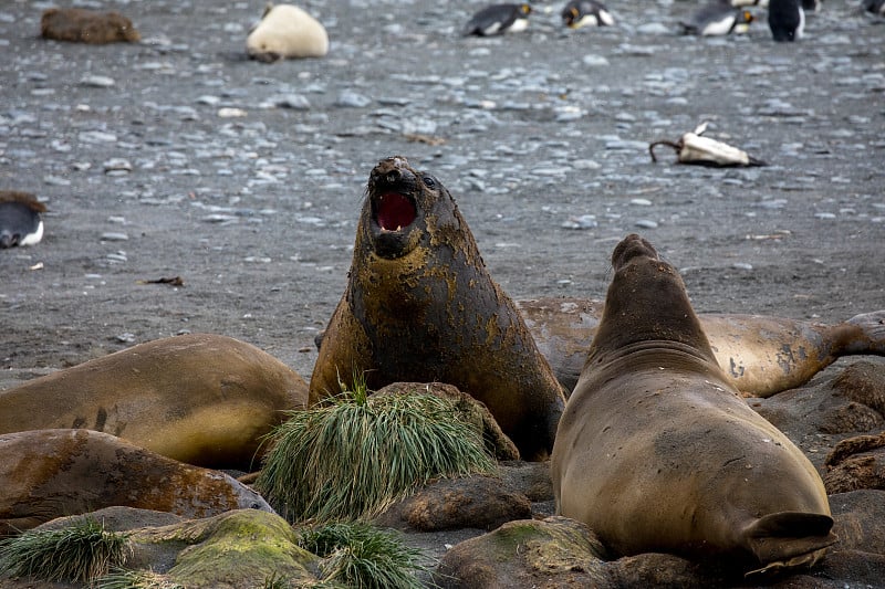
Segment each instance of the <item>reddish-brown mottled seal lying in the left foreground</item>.
M90 430L0 434L0 535L112 505L188 518L230 509L273 513L230 475L191 466Z

